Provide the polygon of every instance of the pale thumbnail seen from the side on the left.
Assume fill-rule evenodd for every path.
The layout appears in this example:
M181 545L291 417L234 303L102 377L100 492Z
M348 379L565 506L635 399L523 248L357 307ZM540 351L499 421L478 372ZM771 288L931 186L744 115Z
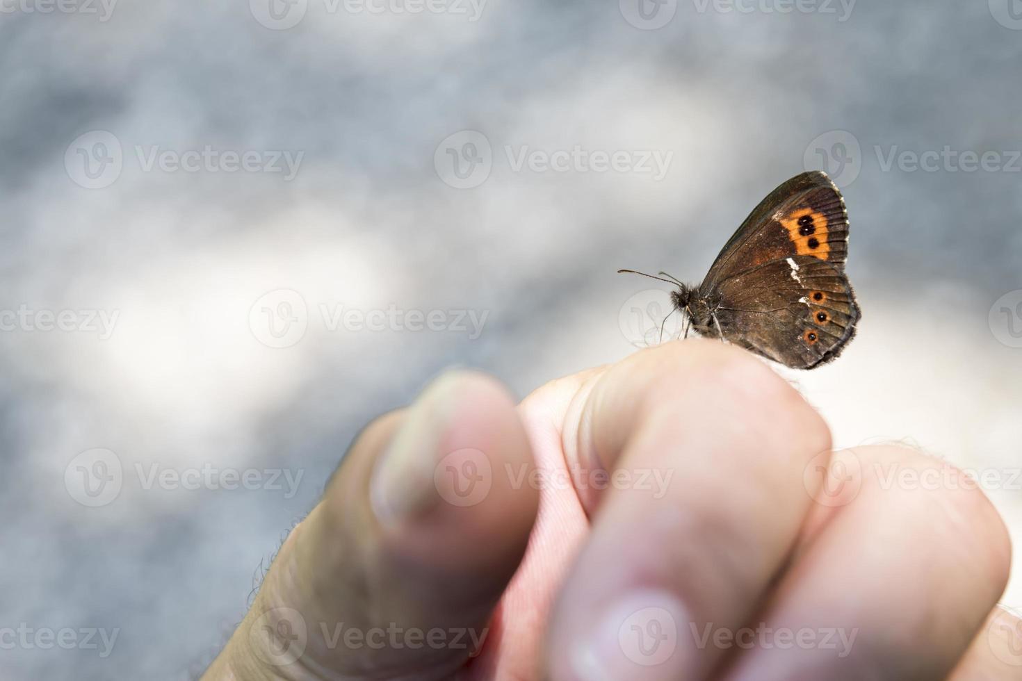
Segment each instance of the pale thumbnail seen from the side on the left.
M433 469L457 383L457 374L447 373L426 386L380 456L369 486L369 499L380 522L415 518L439 502Z

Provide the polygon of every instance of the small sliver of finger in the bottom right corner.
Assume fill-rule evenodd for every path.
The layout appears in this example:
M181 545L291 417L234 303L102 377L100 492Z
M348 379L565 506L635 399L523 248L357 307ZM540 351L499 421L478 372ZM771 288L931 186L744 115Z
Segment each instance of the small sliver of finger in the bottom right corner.
M1022 679L1022 619L1003 607L994 607L948 679Z

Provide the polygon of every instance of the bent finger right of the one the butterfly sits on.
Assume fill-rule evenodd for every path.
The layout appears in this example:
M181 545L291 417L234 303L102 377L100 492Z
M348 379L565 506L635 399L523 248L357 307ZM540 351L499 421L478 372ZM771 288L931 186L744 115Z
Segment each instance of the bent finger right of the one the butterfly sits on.
M892 446L835 458L857 494L822 514L729 681L946 678L1005 588L1007 532L964 474Z

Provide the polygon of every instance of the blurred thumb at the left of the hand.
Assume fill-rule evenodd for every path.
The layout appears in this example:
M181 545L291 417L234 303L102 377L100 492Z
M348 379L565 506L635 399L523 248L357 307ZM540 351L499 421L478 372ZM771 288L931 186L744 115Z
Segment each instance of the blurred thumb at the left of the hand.
M504 389L442 377L358 439L274 561L235 656L285 677L447 678L484 642L537 513L536 490L497 473L530 466Z

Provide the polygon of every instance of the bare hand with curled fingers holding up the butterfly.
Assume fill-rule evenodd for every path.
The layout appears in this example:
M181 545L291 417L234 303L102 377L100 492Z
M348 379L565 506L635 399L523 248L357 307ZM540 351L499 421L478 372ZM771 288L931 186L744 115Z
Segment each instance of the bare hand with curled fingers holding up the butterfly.
M202 678L1022 679L982 492L913 449L830 449L798 392L718 342L517 405L445 374L356 439Z

